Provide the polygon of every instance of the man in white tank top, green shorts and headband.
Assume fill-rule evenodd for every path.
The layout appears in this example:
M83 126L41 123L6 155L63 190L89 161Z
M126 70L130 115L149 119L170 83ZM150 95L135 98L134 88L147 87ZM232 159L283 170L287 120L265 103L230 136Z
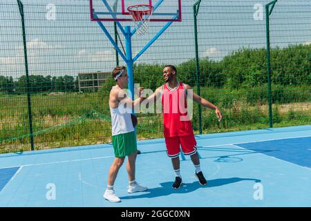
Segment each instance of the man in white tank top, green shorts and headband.
M109 169L108 185L104 193L104 198L110 202L121 202L120 198L115 195L113 184L115 183L117 172L122 166L125 156L128 157L126 163L126 171L129 175L128 193L147 190L147 187L140 186L135 181L135 160L138 150L135 129L131 120L132 110L136 105L140 105L143 98L140 97L133 101L130 97L126 97L123 89L128 84L128 76L124 66L113 69L112 75L113 79L117 81L117 84L113 86L109 95L115 160Z

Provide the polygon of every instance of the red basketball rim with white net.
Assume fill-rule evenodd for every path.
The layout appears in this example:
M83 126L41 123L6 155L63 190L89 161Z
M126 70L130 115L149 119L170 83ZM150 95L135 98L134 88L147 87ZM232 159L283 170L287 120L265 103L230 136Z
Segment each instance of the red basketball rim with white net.
M153 6L149 5L135 5L127 8L132 15L132 19L135 22L138 35L144 35L149 32L149 22L151 19Z

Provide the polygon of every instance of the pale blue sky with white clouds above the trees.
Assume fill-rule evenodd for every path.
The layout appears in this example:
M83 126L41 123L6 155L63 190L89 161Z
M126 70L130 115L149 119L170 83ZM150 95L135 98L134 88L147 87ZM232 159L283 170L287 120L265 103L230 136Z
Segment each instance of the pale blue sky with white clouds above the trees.
M174 22L137 64L178 65L195 58L195 2L182 1L182 22ZM241 48L265 47L267 2L202 1L198 14L199 57L220 61ZM23 0L23 4L30 75L77 76L113 69L115 49L100 26L90 21L87 0ZM149 34L134 35L133 55L164 25L153 22ZM113 23L106 21L104 26L113 35ZM278 1L270 19L270 35L272 48L311 44L311 1ZM25 75L21 19L14 0L0 0L0 75L15 79Z

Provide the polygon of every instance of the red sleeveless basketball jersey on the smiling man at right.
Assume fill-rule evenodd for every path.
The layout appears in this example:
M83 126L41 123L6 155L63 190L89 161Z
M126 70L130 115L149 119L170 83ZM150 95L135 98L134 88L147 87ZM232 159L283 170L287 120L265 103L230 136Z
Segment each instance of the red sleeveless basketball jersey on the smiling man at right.
M162 86L162 114L164 137L194 135L188 116L186 89L182 82L176 88Z

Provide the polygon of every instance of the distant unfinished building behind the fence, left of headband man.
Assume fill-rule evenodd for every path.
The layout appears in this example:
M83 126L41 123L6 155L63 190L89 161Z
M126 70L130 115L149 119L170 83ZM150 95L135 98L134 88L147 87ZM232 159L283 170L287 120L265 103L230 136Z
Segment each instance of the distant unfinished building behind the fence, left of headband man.
M110 72L78 73L79 92L84 90L95 92L109 77Z

